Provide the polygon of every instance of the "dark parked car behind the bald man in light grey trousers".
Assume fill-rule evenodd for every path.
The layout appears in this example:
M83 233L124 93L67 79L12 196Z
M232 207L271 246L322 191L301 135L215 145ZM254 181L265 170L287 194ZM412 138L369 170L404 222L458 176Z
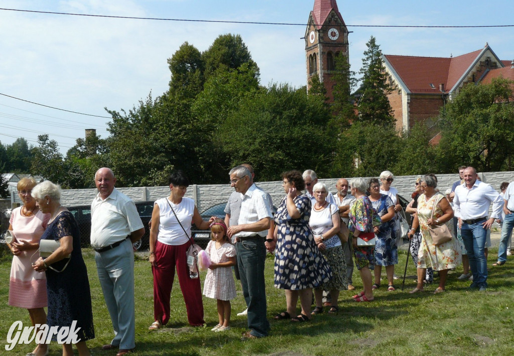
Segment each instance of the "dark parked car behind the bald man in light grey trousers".
M148 249L150 245L150 228L148 222L152 219L152 210L154 209L154 202L137 201L137 212L144 226L144 235L141 239L134 243L136 250ZM82 247L91 246L91 205L76 205L75 207L68 207L71 214L74 215L75 220L79 225L80 230L80 245Z

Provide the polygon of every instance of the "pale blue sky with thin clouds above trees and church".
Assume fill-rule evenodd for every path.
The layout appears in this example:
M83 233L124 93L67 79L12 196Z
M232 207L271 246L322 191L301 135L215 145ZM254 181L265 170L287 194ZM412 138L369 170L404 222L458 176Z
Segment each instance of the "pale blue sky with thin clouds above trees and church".
M454 57L489 43L514 59L514 27L377 28L352 25L514 25L514 2L475 0L337 1L348 30L352 70L373 35L384 54ZM167 60L184 42L200 51L220 34L240 34L261 70L261 84L306 84L305 24L314 0L0 0L2 9L301 24L151 21L0 10L0 142L48 134L63 154L86 128L108 137L104 108L126 111L167 90ZM101 117L67 113L30 104ZM107 117L107 118L105 118Z

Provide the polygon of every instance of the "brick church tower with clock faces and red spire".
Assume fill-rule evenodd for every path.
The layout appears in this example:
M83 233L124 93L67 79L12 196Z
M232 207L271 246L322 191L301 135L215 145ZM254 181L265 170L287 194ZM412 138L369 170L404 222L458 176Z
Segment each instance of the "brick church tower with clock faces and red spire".
M339 13L336 0L315 0L305 30L305 59L307 64L307 90L310 80L319 76L326 88L328 102L334 101L333 71L336 55L348 55L348 29Z

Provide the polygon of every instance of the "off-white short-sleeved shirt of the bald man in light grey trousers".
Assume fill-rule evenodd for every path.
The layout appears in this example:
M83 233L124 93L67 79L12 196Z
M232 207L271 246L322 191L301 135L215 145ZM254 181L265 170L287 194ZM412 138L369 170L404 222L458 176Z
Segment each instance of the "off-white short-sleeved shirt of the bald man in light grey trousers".
M91 203L91 246L100 249L123 240L143 228L136 204L116 188L102 199L100 193Z

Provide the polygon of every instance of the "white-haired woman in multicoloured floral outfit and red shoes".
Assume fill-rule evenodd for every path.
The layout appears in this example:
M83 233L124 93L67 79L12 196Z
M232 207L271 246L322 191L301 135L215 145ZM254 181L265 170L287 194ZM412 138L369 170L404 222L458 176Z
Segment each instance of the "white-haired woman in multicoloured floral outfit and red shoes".
M353 234L353 247L355 266L359 270L364 290L353 296L356 302L373 301L373 289L371 288L371 271L375 268L375 246L357 246L358 238L373 238L374 226L380 224L380 216L375 212L370 198L366 195L366 181L362 178L350 180L352 195L355 202L350 205L348 213L348 230Z

